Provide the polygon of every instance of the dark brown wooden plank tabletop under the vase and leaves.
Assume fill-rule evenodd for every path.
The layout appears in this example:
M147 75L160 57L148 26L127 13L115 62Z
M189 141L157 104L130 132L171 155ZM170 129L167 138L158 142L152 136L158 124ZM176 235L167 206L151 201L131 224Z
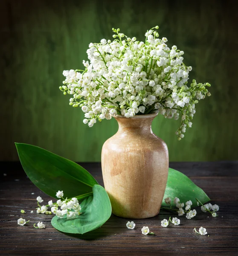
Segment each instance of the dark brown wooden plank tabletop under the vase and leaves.
M100 163L81 165L103 185ZM161 210L154 218L135 220L136 228L128 230L128 219L112 215L101 228L84 235L61 233L51 226L52 215L35 212L36 197L40 195L45 202L50 197L26 177L20 163L0 166L0 255L238 255L238 161L170 164L200 186L212 204L219 205L217 218L196 207L193 219L181 216L179 226L163 228L160 221L175 215ZM21 209L26 213L20 213ZM17 225L20 217L30 222L21 227ZM38 221L43 221L46 229L35 229L33 224ZM142 235L143 226L155 235ZM192 232L200 226L206 227L209 236Z

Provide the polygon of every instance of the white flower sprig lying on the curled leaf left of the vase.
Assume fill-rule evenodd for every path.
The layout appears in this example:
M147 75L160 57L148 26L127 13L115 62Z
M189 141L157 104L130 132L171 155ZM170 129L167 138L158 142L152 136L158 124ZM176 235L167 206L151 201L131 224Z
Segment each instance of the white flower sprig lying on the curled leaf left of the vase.
M58 218L64 218L66 215L67 219L74 219L81 214L81 206L77 198L64 199L64 193L60 190L56 193L56 196L62 200L59 199L55 204L52 200L49 201L49 207Z

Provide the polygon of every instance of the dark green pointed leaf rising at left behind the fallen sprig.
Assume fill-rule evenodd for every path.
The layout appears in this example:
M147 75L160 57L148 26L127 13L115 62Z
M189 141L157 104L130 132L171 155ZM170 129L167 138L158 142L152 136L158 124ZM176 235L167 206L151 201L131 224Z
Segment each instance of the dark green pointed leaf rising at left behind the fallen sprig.
M29 179L43 192L56 198L63 190L68 198L78 199L93 194L98 184L82 166L37 146L15 143L20 162Z

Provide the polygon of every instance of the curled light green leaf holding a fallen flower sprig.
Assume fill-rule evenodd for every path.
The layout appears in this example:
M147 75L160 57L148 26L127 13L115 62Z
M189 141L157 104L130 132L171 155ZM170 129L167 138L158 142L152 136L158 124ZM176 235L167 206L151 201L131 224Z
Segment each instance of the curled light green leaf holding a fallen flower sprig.
M101 227L111 216L112 208L106 190L100 185L93 186L93 196L80 204L82 214L73 220L55 216L51 224L65 233L84 234Z

